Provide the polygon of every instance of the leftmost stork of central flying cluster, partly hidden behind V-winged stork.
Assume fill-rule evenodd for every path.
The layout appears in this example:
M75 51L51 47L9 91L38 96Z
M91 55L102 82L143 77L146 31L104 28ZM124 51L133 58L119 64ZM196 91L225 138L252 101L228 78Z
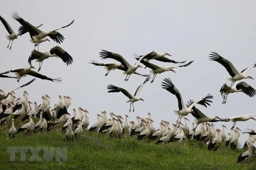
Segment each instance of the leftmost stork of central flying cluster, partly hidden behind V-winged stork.
M92 60L91 62L89 62L89 64L93 64L94 66L104 66L105 69L107 70L107 73L105 74L105 76L108 76L109 72L115 69L126 71L125 67L120 62L98 63L97 61ZM147 74L140 74L140 73L137 73L136 71L134 72L134 74L137 74L140 76L148 76Z

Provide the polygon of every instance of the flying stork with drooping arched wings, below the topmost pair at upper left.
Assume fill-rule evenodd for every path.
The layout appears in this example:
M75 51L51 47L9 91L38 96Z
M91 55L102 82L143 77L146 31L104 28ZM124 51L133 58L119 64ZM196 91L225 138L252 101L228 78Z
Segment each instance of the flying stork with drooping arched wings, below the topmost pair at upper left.
M37 50L32 50L29 55L28 63L31 66L31 61L36 60L36 62L39 62L38 71L40 71L44 60L49 57L59 57L67 64L67 66L73 62L73 58L63 48L60 46L54 46L49 52L38 52Z

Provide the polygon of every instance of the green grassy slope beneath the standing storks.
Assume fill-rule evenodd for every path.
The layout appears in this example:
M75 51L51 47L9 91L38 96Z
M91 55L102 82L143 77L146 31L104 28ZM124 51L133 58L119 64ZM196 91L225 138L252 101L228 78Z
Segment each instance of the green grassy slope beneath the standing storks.
M17 121L17 122L16 122ZM11 122L11 121L10 121ZM20 124L15 120L15 124ZM16 125L18 128L19 125ZM42 161L28 161L31 153L26 153L26 161L10 161L8 146L67 146L67 162L47 161L39 152ZM255 169L255 157L248 164L237 164L236 160L244 150L230 150L224 145L216 152L196 140L187 140L168 145L156 145L156 141L137 141L136 136L125 135L122 139L110 139L107 134L84 132L83 138L74 139L69 146L60 127L54 134L32 134L26 138L17 134L15 139L8 138L6 126L0 127L0 169Z

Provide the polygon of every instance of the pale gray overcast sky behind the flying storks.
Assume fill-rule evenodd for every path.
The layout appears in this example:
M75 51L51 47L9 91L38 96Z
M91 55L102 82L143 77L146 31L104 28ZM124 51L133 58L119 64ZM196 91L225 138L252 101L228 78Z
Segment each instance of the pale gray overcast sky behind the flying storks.
M58 103L58 95L72 98L72 105L68 109L82 108L90 114L90 125L96 121L96 114L102 110L120 115L128 114L130 120L136 116L147 117L152 114L155 127L159 127L160 120L175 122L177 115L173 110L178 109L177 98L161 88L161 81L170 78L179 89L184 101L197 100L207 94L214 96L210 107L198 106L205 115L228 118L254 112L255 97L250 98L243 93L228 95L227 104L223 105L220 88L230 75L225 67L209 60L211 51L218 52L230 60L239 70L255 64L256 21L255 1L6 1L0 6L1 16L7 20L14 31L20 27L19 22L12 19L13 11L33 25L42 25L43 31L56 29L67 25L73 19L74 24L60 33L65 41L60 44L74 62L67 66L62 60L50 58L44 61L40 73L51 78L61 77L61 83L37 79L24 89L16 91L18 97L23 90L29 94L30 101L42 103L41 96L48 94L51 97L51 106ZM43 12L41 12L43 11ZM0 73L18 67L27 67L28 57L34 46L29 41L29 34L24 34L13 41L12 50L6 48L8 34L0 24L1 62ZM59 45L51 39L40 45L40 51L48 51ZM175 69L176 73L166 72L157 74L154 83L146 83L140 96L145 100L134 103L135 112L129 113L128 100L121 93L108 93L107 85L112 83L127 89L134 94L138 85L145 78L133 74L125 82L122 71L111 71L104 76L103 67L88 64L90 60L97 62L115 62L102 60L100 50L109 50L124 56L128 62L134 64L132 53L145 54L168 52L173 60L194 60L183 68ZM173 66L152 60L159 66ZM38 68L38 63L33 61ZM149 69L138 68L139 73L148 74ZM256 69L248 72L256 78ZM22 78L20 83L13 79L1 78L1 89L4 91L15 89L31 80L31 76ZM255 80L245 80L256 88ZM193 121L191 115L188 118ZM191 122L189 125L191 126ZM232 123L225 123L229 132ZM216 127L220 127L217 123ZM238 122L237 126L255 129L254 120ZM241 134L240 141L244 142L248 135Z

